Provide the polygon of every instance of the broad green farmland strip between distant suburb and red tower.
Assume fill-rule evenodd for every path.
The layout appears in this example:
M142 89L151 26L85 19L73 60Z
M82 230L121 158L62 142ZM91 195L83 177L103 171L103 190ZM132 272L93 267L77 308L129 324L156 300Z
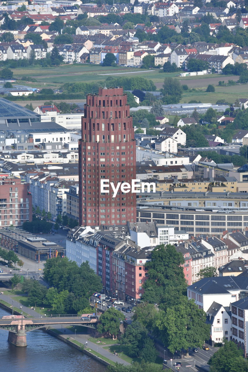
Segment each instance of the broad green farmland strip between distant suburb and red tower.
M157 89L160 89L163 86L163 80L165 77L174 77L177 78L181 84L187 84L189 88L197 89L196 92L184 92L181 103L187 103L190 100L197 100L203 103L216 103L218 99L225 99L226 102L233 103L236 98L241 98L248 95L247 84L230 87L218 86L219 80L238 80L238 76L222 76L217 74L179 77L178 73L163 73L162 70L159 69L146 71L140 68L128 68L121 66L102 67L101 65L92 64L61 65L58 67L49 68L16 68L13 69L13 73L14 77L19 79L22 76L30 76L35 78L37 80L36 83L18 80L18 84L37 87L39 89L57 89L60 88L64 83L68 82L73 83L82 81L85 83L92 83L93 81L104 81L109 76L144 77L152 80ZM216 92L206 93L205 90L208 84L213 84Z

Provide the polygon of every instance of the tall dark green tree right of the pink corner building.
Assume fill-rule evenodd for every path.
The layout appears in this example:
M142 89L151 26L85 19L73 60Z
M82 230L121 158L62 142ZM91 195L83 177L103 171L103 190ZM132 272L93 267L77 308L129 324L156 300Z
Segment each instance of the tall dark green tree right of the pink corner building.
M144 301L164 303L165 305L177 292L177 298L186 290L186 282L181 267L184 259L174 246L160 244L151 253L146 263L148 278L144 283Z

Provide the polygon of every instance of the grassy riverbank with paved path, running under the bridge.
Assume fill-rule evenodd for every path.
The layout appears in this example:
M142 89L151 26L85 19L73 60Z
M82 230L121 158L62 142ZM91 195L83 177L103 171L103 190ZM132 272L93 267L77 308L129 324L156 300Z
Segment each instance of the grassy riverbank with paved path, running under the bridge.
M4 288L3 288L4 289ZM1 291L1 289L0 289ZM12 305L13 305L13 313L16 315L20 315L20 302L15 301L15 295L13 294L12 297L10 295L0 295L0 307L3 308L6 311L9 311L12 313ZM12 305L11 305L12 304ZM31 310L30 308L27 308L26 306L22 305L22 311L23 315L28 316L29 318L35 317L39 318L40 314L34 310ZM60 327L60 325L58 325ZM113 355L108 350L105 350L101 345L95 344L91 342L89 339L91 338L89 334L82 334L72 332L70 328L63 327L61 325L61 330L58 329L58 327L50 328L50 327L44 327L43 329L50 334L51 336L54 336L61 341L64 341L67 344L70 344L70 346L73 346L80 352L85 353L86 355L92 357L93 359L97 360L98 362L102 363L105 366L108 366L110 364L114 365L115 363L123 363L124 365L130 365L130 363L126 362L125 360L120 359L120 357ZM75 327L76 328L76 327ZM87 347L84 345L87 344Z

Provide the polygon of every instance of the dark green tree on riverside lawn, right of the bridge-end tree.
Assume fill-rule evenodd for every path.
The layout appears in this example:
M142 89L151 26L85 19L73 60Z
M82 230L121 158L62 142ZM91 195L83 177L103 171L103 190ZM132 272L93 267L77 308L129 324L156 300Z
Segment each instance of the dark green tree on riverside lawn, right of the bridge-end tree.
M128 348L128 355L137 357L139 351L143 348L144 339L147 338L147 330L142 323L134 320L128 324L125 333L121 337L121 345Z

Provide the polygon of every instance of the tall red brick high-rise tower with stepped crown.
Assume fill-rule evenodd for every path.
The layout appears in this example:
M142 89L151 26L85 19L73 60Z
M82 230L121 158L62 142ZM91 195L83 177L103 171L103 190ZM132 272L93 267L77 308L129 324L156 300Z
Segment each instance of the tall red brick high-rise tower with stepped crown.
M112 189L102 193L100 180L131 183L136 179L133 119L123 88L99 88L88 94L79 140L79 223L122 225L136 221L136 195Z

